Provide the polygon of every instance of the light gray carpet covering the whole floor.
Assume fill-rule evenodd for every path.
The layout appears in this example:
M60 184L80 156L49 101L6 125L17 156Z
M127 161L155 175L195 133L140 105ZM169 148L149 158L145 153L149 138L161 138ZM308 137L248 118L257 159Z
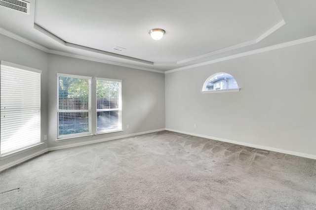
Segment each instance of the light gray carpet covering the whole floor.
M169 131L0 173L1 210L315 210L316 160Z

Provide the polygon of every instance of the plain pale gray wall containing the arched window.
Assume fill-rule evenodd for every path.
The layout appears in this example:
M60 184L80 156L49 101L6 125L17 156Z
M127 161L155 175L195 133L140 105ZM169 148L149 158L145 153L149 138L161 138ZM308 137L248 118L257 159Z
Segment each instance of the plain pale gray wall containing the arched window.
M314 41L168 73L166 128L315 156L315 59ZM241 90L202 94L217 72Z

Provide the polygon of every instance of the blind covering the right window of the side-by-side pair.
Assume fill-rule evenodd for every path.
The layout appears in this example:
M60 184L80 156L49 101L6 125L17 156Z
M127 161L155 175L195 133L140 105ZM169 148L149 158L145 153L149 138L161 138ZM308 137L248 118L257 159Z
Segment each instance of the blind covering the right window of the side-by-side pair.
M96 78L97 133L122 129L121 80Z

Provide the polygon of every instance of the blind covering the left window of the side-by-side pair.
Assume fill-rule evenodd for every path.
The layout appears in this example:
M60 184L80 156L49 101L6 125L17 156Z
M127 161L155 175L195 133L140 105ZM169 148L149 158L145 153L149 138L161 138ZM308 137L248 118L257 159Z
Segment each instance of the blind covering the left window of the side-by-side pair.
M58 137L91 134L91 77L57 74Z

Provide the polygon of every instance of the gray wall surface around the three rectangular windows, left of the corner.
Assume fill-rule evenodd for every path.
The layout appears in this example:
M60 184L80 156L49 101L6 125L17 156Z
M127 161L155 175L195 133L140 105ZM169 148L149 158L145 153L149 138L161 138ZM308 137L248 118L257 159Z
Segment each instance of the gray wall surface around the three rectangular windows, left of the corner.
M165 128L164 74L45 53L0 34L0 60L42 70L40 148L0 160L0 167L51 147ZM77 74L122 80L123 132L57 143L57 76ZM92 87L92 90L95 87ZM93 100L94 99L94 100ZM92 107L95 97L92 95ZM94 125L95 117L92 118ZM129 125L129 129L126 129ZM47 141L43 136L47 134Z

